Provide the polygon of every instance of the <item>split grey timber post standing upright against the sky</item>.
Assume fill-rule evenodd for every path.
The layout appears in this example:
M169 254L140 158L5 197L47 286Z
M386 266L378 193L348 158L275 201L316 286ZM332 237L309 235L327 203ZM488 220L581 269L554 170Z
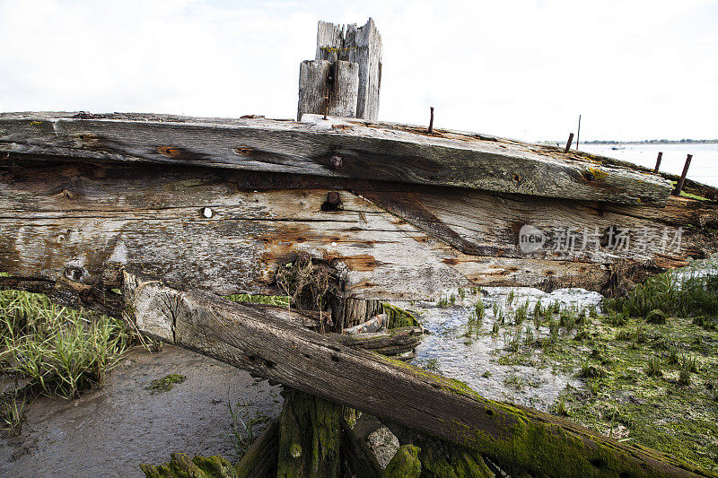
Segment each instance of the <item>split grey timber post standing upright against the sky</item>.
M297 119L312 113L376 120L381 87L381 35L363 27L319 22L317 54L299 70Z

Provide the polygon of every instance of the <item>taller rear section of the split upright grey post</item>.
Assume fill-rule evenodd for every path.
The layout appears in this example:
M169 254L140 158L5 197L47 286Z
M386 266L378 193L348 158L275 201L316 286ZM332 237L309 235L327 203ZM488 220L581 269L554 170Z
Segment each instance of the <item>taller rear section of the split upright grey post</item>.
M379 114L381 88L381 35L374 21L370 18L358 28L355 24L319 22L316 59L358 64L357 107L352 117L375 120Z

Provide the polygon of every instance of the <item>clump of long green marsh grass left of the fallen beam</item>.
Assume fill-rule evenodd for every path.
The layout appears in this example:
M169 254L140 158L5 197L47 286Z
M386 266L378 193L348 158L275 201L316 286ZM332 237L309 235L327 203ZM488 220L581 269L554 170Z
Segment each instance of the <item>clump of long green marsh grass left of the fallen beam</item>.
M35 392L72 398L101 384L133 341L118 319L0 292L0 372L29 378Z

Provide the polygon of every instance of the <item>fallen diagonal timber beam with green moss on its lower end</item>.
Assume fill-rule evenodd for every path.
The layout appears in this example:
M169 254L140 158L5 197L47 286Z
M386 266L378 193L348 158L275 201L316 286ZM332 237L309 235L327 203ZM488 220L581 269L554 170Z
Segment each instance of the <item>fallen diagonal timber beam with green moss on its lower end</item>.
M530 408L487 400L464 384L354 350L273 309L123 272L126 319L153 338L396 422L488 456L510 473L711 476Z

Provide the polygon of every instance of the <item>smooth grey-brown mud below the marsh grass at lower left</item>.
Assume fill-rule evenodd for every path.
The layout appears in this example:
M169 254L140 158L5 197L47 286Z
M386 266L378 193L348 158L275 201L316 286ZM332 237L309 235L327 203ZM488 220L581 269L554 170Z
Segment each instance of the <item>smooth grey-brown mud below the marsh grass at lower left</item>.
M168 391L147 389L170 374L186 379ZM279 391L178 347L136 348L100 390L72 401L38 398L21 436L0 440L0 475L144 476L140 463L166 462L171 452L234 460L228 403L241 420L256 422L256 436L280 412Z

